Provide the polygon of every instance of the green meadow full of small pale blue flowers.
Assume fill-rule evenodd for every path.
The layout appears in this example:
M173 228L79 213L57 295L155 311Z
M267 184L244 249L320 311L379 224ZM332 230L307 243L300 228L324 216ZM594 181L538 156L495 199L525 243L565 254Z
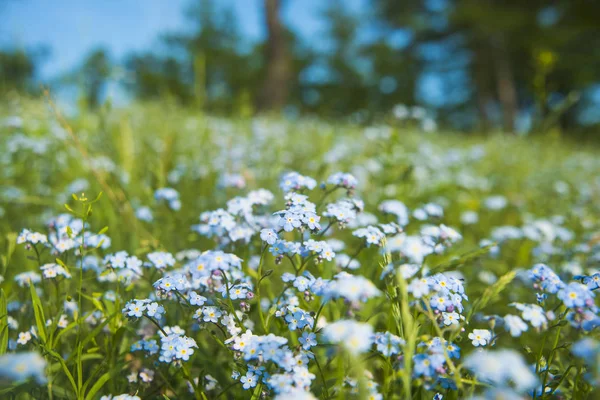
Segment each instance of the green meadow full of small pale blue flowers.
M6 103L0 397L598 398L600 151L421 128Z

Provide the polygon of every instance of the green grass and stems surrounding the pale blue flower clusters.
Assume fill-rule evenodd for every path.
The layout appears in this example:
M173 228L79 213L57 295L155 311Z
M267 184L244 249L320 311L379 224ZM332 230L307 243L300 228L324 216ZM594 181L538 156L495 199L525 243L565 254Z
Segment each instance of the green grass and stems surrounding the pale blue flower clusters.
M94 113L81 110L66 116L51 102L20 99L8 103L3 110L0 121L3 118L9 121L7 118L11 116L19 116L22 121L0 127L3 182L0 238L4 242L0 275L4 277L2 289L6 302L18 302L21 312L15 313L14 309L8 312L19 328L2 331L0 348L8 346L8 342L2 342L8 340L5 338L15 340L19 332L36 326L38 337L17 349L41 352L48 366L43 391L31 392L39 385L20 381L0 384L6 390L2 393L17 393L22 398L93 399L100 394L119 393L137 393L144 399L259 398L260 390L266 389L264 383L244 391L238 381L231 379L232 370L244 375L247 366L233 357L224 343L227 334L223 327L215 325L194 331L199 347L183 367L153 364L130 352L130 346L140 338L136 327L155 335L157 329L127 321L121 308L132 298L149 296L153 291L151 284L160 277L159 271L145 273L143 279L133 284L101 283L91 271L83 271L83 259L75 252L56 256L43 253L41 258L38 255L37 260L32 259L32 251L15 246L16 235L23 228L42 232L51 216L71 210L89 220L89 231L108 227L106 234L111 239L109 250L81 247L79 254L89 252L102 257L125 250L145 259L152 251L175 254L186 249L204 251L221 246L244 260L244 273L251 278L258 297L262 294L273 301L284 288L280 279L283 272L298 274L300 266L315 276L331 278L339 268L334 262L314 264L299 256L280 263L257 238L249 244L223 245L219 239L202 237L190 227L199 222L200 213L225 208L229 199L258 188L275 194L272 211L283 208L283 195L277 183L284 172L299 171L320 183L334 172L346 171L359 181L356 194L364 200L365 211L377 215L381 221L385 217L377 206L386 199L401 200L410 210L430 202L443 206L443 219L434 222L456 228L462 240L442 254L428 256L420 266L421 273L425 275L431 270L461 274L470 299L464 312L468 321L463 324L465 331L440 326L438 314L434 314L428 303L409 301L409 282L400 274L380 279L382 268L389 262L398 267L406 261L402 253L386 253L372 247L363 250L349 230L334 226L330 233L344 241L345 252L357 254L362 264L359 270L349 272L368 278L382 295L356 309L343 300L322 306L318 298L301 299L300 304L330 322L351 318L369 323L377 331L398 335L407 344L405 358L395 360L373 350L360 356L343 350L335 353L335 346L326 340L319 341L314 350L315 363L309 365L310 372L315 374L311 386L315 396L350 396L351 388L344 383L349 375L359 382L361 396L371 393L365 385L375 381L384 398L431 398L442 389L430 379L415 377L410 372L414 372L411 355L422 351L417 344L444 337L458 343L464 357L475 352L467 339L473 328L491 329L496 335L496 347L515 349L528 365L534 366L543 390L549 388L546 394L538 394L538 398L551 398L555 390L573 398L594 396L594 381L589 375L583 378L586 372L595 372L594 368L585 367L573 357L570 345L583 336L597 338L597 333L583 334L570 326L561 328L566 315L557 314L556 326L549 323L546 329L530 328L522 337L513 338L503 328L494 328L490 322L493 320L484 317L499 319L509 313L516 314L509 305L511 302L535 303L535 291L522 279L522 274L517 274L521 269L544 262L567 282L573 275L593 273L598 268L600 253L595 246L600 242L600 210L595 199L600 198L600 151L597 148L583 147L560 137L423 133L402 121L364 127L314 119L219 118L168 103L135 104L125 109L107 106ZM244 187L224 184L231 174L243 178ZM156 201L154 193L162 187L178 191L181 210L173 211ZM82 192L88 199L83 199ZM101 192L102 196L93 203L91 199ZM317 188L310 192L310 198L319 204L324 193ZM341 195L338 191L327 201ZM507 205L490 209L487 205L490 196L503 196ZM136 210L142 206L152 209L152 222L136 217ZM91 212L87 207L91 207ZM461 218L465 211L477 212L478 221L466 223ZM325 220L322 220L324 226ZM539 223L541 220L544 222ZM541 232L540 238L498 243L494 232L502 226L519 229L533 226L531 229ZM572 238L545 237L547 226L553 235L564 228L572 233ZM413 218L405 230L416 235L421 227ZM287 237L291 240L290 235ZM77 238L75 235L74 239ZM494 246L483 246L482 250L485 239L496 242L499 253ZM582 245L587 250L582 250ZM256 261L260 258L258 270L249 267L253 257ZM39 294L15 284L15 275L36 270L38 264L55 262L55 258L71 272L70 281L43 280L38 285ZM103 296L108 290L116 293L116 299L111 301ZM61 329L56 324L65 313L65 300L76 301L79 312L69 314L69 324ZM2 301L0 310L4 307ZM222 304L220 300L214 301L225 312L241 307L230 300ZM167 303L169 324L178 324L189 332L193 307L185 302ZM251 311L244 313L244 318L254 322L255 333L267 333L263 331L268 327L270 332L286 337L292 347L298 345L301 332L288 330L282 319L268 308L262 310L263 315L256 301L248 303ZM548 301L546 306L560 306L560 302ZM91 315L98 316L97 324L84 322L84 317ZM46 319L51 321L47 326ZM164 326L161 321L152 323ZM0 326L8 326L5 318L0 318ZM443 391L447 398L466 398L486 390L487 383L466 368L462 359L453 361L447 354L444 356L445 376L459 388L458 392ZM545 363L551 369L541 368ZM138 378L138 382L129 383L125 379L143 368L154 371L153 382L142 383ZM369 373L365 375L367 370ZM218 389L206 389L207 375L217 379ZM194 394L187 390L188 383ZM508 390L496 386L498 390Z

